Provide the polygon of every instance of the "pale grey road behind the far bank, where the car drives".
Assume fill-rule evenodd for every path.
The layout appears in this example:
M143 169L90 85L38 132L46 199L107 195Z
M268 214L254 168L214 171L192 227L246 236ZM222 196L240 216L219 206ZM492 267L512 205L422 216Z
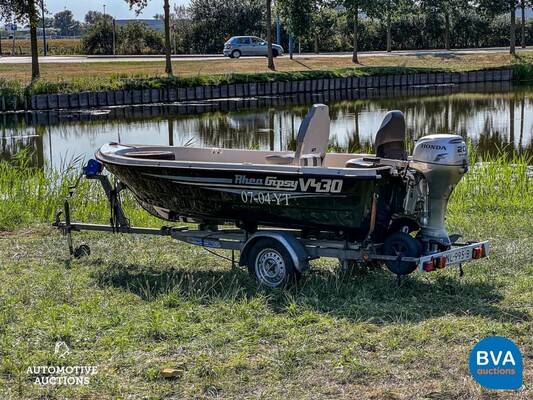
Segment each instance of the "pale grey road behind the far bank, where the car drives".
M529 49L517 48L517 53L531 51ZM507 53L508 47L485 48L485 49L460 49L460 50L421 50L421 51L393 51L390 53L384 51L359 52L359 57L396 57L396 56L421 56L421 55L461 55L461 54L487 54L487 53ZM348 58L352 53L302 53L294 54L295 58ZM205 54L205 55L178 55L172 56L173 62L179 61L206 61L206 60L220 60L223 58L222 54ZM263 58L263 57L249 57L249 58ZM285 54L283 58L288 58ZM163 61L164 56L47 56L39 57L40 63L98 63L98 62L148 62L148 61ZM0 64L30 64L31 57L0 57Z

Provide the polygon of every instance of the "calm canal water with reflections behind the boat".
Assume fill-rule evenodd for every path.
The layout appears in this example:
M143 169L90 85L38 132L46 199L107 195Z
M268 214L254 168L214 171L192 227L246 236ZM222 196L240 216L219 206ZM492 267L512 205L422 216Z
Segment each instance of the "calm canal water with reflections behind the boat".
M21 149L33 165L61 166L92 157L107 141L285 150L295 147L309 106L330 107L330 145L336 151L371 151L385 113L402 110L409 146L432 133L456 132L481 152L533 154L532 87L508 84L429 86L409 90L337 91L224 102L114 107L3 115L2 159Z

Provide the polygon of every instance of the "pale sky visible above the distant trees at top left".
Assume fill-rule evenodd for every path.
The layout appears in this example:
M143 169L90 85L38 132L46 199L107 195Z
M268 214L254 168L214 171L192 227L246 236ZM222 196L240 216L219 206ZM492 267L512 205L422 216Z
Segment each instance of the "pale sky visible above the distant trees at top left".
M135 11L125 0L44 0L49 17L65 9L72 11L74 19L83 21L87 11L100 11L113 16L115 19L135 18ZM176 5L188 5L189 0L170 0L170 10ZM139 18L152 18L155 14L163 14L163 0L149 0Z

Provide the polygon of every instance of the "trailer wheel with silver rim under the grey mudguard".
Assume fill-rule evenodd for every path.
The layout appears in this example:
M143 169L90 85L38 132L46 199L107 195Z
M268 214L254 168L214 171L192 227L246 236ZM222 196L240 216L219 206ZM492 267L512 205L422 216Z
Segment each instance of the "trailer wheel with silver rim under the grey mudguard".
M277 240L258 240L250 249L248 272L252 278L269 287L288 287L302 276L292 258Z

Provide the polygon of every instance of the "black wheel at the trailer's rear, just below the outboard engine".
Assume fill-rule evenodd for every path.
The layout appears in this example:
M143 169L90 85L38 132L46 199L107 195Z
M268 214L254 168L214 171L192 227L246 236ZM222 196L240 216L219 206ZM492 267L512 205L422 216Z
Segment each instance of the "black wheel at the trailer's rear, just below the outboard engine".
M420 257L422 244L405 232L396 232L383 242L383 254L387 256ZM413 261L386 260L389 271L396 275L408 275L416 269Z

